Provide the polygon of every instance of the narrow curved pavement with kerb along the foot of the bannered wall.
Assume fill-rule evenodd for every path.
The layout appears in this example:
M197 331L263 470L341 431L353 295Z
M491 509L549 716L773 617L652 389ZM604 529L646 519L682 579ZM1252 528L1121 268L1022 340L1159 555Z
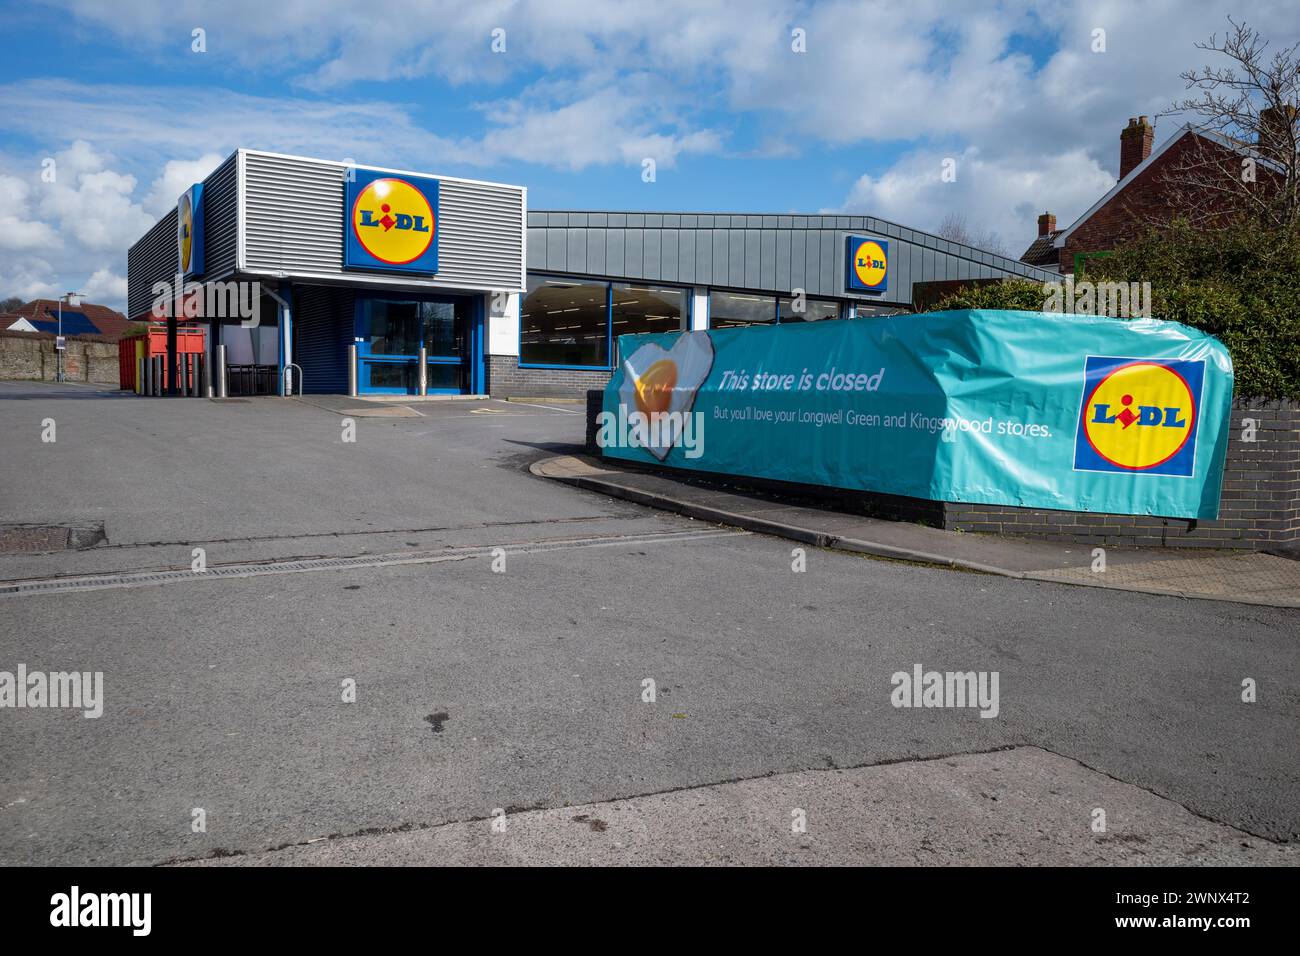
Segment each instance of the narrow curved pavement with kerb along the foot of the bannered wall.
M816 548L1002 578L1300 607L1300 561L1273 554L1110 546L1105 549L1104 566L1097 566L1091 545L972 535L845 514L585 454L547 458L533 463L532 471L638 505Z

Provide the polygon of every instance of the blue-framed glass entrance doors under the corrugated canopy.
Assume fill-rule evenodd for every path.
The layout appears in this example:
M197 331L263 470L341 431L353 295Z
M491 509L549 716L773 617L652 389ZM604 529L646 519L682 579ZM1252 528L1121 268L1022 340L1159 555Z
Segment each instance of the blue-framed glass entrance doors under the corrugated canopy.
M471 316L472 303L465 298L359 299L358 388L372 394L419 394L422 346L429 394L467 393Z

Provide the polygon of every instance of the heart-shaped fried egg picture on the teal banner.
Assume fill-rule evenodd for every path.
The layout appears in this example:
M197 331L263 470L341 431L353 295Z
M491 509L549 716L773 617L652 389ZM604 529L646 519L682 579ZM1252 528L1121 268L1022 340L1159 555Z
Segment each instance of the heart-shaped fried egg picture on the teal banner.
M707 332L686 332L672 349L650 342L623 359L619 402L628 415L638 411L649 421L656 412L679 412L660 419L658 428L638 429L642 446L660 462L681 438L682 421L712 367L714 343Z

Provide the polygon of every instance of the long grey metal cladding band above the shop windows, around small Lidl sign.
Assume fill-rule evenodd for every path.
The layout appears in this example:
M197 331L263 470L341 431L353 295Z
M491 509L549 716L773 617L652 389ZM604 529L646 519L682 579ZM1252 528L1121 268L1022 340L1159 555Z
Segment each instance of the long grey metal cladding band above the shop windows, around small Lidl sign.
M889 289L845 289L845 237L889 241ZM984 252L871 216L729 213L529 212L528 268L785 293L861 302L911 303L914 282L1022 276L1060 278L1015 259Z

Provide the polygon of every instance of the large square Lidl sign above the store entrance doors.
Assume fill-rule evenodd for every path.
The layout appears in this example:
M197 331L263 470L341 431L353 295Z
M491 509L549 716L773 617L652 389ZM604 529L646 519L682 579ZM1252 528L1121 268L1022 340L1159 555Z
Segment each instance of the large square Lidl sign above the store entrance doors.
M438 181L367 169L350 172L343 264L437 272Z

